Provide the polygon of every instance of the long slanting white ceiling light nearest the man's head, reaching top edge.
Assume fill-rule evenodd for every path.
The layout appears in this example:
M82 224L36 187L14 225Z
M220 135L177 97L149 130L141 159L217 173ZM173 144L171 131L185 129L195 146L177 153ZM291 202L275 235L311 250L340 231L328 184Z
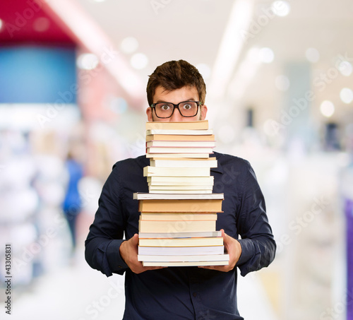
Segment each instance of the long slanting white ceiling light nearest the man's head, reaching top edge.
M234 1L213 66L208 93L211 99L220 98L225 94L241 49L246 44L246 39L242 35L249 30L253 18L253 2L253 0Z

